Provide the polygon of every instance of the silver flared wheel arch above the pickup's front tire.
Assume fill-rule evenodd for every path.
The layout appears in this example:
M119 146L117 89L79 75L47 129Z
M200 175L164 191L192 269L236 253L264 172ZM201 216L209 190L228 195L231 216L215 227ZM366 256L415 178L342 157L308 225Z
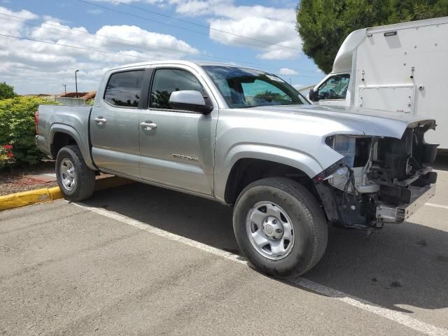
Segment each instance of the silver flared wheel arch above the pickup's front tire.
M310 178L316 176L324 169L311 155L293 151L290 148L262 144L238 144L228 151L221 162L216 162L215 197L220 202L225 202L225 187L230 172L240 159L259 159L288 165L300 169Z

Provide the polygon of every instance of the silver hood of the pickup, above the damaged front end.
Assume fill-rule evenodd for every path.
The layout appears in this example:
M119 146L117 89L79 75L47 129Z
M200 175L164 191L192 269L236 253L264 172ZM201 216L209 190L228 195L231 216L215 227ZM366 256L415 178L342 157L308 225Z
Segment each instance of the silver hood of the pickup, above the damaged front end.
M365 135L376 137L392 137L401 139L407 127L426 125L435 128L435 120L411 116L406 113L363 109L344 106L316 106L316 105L276 105L258 106L245 110L287 113L300 116L314 116L341 123L359 130Z

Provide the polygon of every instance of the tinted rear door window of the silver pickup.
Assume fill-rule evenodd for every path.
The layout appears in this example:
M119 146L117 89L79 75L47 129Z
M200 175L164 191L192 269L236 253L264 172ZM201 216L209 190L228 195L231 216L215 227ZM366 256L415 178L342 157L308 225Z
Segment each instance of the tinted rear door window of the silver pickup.
M107 83L104 100L113 106L137 108L144 74L144 70L113 73Z

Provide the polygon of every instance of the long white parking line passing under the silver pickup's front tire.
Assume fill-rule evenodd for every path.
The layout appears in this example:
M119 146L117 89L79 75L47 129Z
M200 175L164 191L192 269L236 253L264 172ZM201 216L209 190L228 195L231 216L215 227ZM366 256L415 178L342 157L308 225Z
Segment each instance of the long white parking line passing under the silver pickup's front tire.
M241 264L246 264L246 260L244 258L241 258L239 255L229 253L229 252L220 250L219 248L215 248L215 247L212 247L212 246L209 246L206 244L202 244L199 241L195 241L193 239L188 239L186 237L174 235L174 233L167 232L167 231L161 230L159 228L155 228L149 224L143 223L141 221L136 221L135 219L132 219L132 218L120 215L120 214L116 214L115 212L112 212L112 211L109 211L106 209L102 209L102 208L89 207L82 203L71 203L71 204L74 204L77 207L82 207L83 209L87 209L96 214L114 219L121 223L132 225L135 228L139 228L140 230L145 230L147 232L152 233L153 235L158 235L160 237L165 237L167 239L179 241L182 244L186 244L188 246L193 246L195 248L200 248L201 250L207 251L211 254L218 255L220 257L230 259L230 260L239 262ZM400 313L399 311L393 311L391 309L379 307L377 304L373 304L372 302L360 299L359 297L356 297L353 295L343 293L339 290L335 290L335 289L329 288L327 286L320 285L318 283L309 281L302 277L292 280L290 282L295 283L298 286L301 286L303 288L312 290L321 295L325 295L325 296L331 297L335 300L342 301L346 304L350 304L353 307L357 307L359 309L369 311L370 313L377 314L379 316L387 318L388 320L394 321L395 323L400 323L401 325L405 325L407 328L411 328L413 330L423 332L426 335L448 336L447 329L439 328L439 327L436 327L435 325L424 323L422 321L416 320L415 318L409 317L406 314Z

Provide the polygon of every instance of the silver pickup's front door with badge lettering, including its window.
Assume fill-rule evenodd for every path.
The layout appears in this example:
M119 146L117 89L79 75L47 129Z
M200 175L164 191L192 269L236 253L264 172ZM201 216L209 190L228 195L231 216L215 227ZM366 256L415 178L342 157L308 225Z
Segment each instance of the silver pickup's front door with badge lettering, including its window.
M140 114L140 172L143 179L207 195L213 194L214 141L218 109L204 115L173 109L174 91L197 90L213 105L193 69L154 68L149 108ZM151 126L148 126L151 125Z

